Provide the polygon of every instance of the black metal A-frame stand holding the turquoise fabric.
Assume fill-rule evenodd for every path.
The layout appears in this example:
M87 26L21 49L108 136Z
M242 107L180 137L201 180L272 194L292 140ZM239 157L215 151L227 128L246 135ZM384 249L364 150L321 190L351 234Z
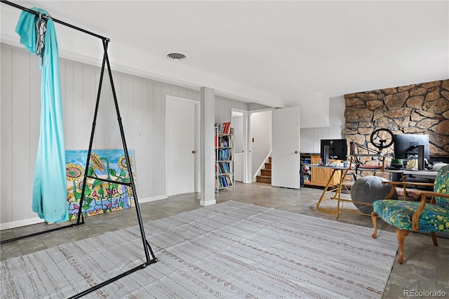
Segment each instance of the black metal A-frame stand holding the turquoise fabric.
M23 11L27 11L29 13L34 13L36 15L38 14L38 13L36 13L36 11L32 11L32 10L30 10L28 8L19 6L18 4L13 4L10 1L0 0L0 2L4 3L4 4L8 4L10 6L14 6L15 8L22 9ZM44 16L43 18L51 18L51 17ZM87 155L87 161L86 161L86 168L85 168L84 178L83 178L83 187L82 187L82 191L81 191L81 199L80 199L80 202L79 202L78 218L76 219L76 223L72 223L70 225L66 225L66 226L62 226L62 227L56 227L54 229L45 230L43 232L36 232L34 234L27 234L27 235L22 236L22 237L16 237L16 238L13 238L13 239L0 241L0 244L4 244L4 243L7 243L7 242L11 242L11 241L17 241L19 239L25 239L27 237L34 237L34 236L38 236L40 234L46 234L48 232L54 232L56 230L62 230L62 229L68 228L68 227L76 227L77 225L83 225L84 224L84 216L83 216L83 213L82 213L81 210L82 210L82 206L83 206L84 191L85 191L85 187L86 187L87 178L93 178L95 180L101 180L101 181L104 181L104 182L112 182L112 183L116 183L116 184L119 184L119 185L126 185L127 187L130 187L131 190L133 191L133 198L134 198L134 201L135 201L135 211L136 211L137 216L138 216L138 225L140 227L140 234L142 236L142 244L143 244L143 248L145 250L145 263L142 263L138 267L135 267L135 268L130 269L130 270L126 271L126 272L123 272L123 273L117 275L116 277L112 277L112 279L104 281L104 282L102 282L102 283L100 283L100 284L98 284L96 286L93 286L92 288L88 288L86 291L83 291L83 292L78 293L78 294L76 294L76 295L71 297L71 298L80 298L83 295L91 293L91 292L97 290L98 288L102 288L103 286L106 286L107 284L110 284L113 281L116 281L117 279L121 279L122 277L125 277L128 274L131 274L131 273L133 273L135 271L144 269L148 265L156 263L157 262L157 258L154 256L152 248L149 245L149 243L148 243L148 241L147 241L147 239L145 237L145 229L143 227L142 216L140 214L140 207L139 207L138 195L137 195L137 192L135 190L135 183L134 183L134 178L133 178L133 172L130 169L130 165L131 164L130 164L130 158L129 158L129 154L128 154L128 147L126 146L125 134L123 132L123 125L122 125L122 122L121 122L120 111L119 111L119 103L117 101L116 91L115 91L115 87L114 87L114 80L112 79L111 66L109 64L109 57L107 55L107 46L109 44L109 39L105 38L104 36L100 36L98 34L94 34L92 32L88 32L85 29L81 29L79 27L67 24L67 23L62 22L60 20L57 20L55 18L52 18L52 20L54 22L58 22L58 23L60 23L62 25L65 25L67 27L71 27L73 29L79 30L79 31L87 33L87 34L91 34L93 36L96 36L96 37L102 39L103 49L105 51L104 55L103 55L102 68L101 68L101 74L100 74L100 84L98 86L97 102L95 104L95 112L94 112L94 115L93 115L91 140L89 142L89 149L88 149L88 155ZM100 103L100 93L101 93L102 81L103 81L103 77L104 77L104 73L105 73L105 65L107 65L107 70L108 70L108 74L109 74L109 80L111 82L111 87L112 87L112 94L114 95L114 104L115 104L117 119L119 121L121 141L123 143L123 150L125 152L125 157L126 157L126 165L129 166L128 171L129 171L130 182L118 182L118 181L114 181L114 180L107 180L107 179L92 177L92 176L88 175L88 168L89 168L89 164L90 164L90 161L91 161L93 137L95 135L95 125L96 125L96 120L97 120L97 115L98 115L98 106L99 106L99 103Z

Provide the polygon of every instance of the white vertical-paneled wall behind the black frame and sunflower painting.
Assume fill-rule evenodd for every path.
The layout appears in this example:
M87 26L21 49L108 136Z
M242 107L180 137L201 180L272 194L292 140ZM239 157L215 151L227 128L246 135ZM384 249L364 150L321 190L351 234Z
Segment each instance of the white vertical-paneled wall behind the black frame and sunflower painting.
M87 150L98 94L100 67L60 60L65 146ZM140 202L166 197L165 96L199 100L199 91L113 72L128 150L135 150ZM36 222L32 183L40 124L39 58L1 44L0 223L13 227ZM220 115L246 103L221 98ZM240 103L240 104L239 104ZM93 149L123 148L114 98L105 72ZM6 226L4 224L7 224Z

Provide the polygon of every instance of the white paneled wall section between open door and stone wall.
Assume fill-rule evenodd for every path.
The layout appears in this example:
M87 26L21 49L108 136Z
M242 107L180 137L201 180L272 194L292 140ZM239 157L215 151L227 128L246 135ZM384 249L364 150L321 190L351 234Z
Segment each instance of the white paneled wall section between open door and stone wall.
M344 96L329 99L329 126L301 129L301 152L320 152L321 139L344 138Z

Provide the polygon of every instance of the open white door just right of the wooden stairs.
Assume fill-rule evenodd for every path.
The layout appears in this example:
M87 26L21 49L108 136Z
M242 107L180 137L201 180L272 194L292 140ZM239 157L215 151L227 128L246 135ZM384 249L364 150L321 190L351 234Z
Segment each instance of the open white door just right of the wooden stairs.
M300 107L272 111L272 185L300 189Z

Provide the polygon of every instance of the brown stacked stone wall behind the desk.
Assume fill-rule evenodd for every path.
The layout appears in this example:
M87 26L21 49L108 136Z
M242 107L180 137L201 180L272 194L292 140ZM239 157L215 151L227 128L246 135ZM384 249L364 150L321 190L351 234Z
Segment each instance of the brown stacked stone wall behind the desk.
M344 95L348 141L377 150L377 128L428 134L431 157L449 157L449 79ZM393 148L384 152L393 152Z

